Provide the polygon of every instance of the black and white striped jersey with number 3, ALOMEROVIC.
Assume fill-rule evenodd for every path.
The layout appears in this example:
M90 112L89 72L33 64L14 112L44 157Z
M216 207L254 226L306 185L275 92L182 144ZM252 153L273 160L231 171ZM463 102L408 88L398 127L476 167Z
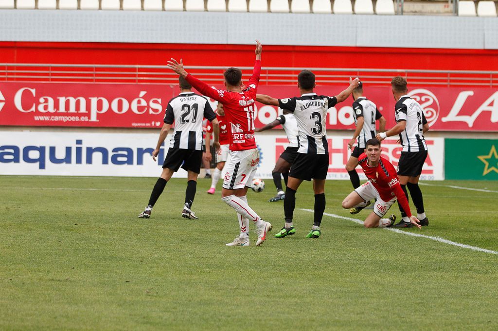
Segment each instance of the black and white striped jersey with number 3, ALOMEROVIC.
M327 110L336 103L335 96L316 93L278 100L280 108L293 112L296 118L299 130L298 153L329 154L325 120Z

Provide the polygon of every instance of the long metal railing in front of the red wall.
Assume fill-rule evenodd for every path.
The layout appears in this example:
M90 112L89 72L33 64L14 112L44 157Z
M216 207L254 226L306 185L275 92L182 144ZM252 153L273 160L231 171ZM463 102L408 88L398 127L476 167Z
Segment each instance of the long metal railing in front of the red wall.
M222 84L227 67L188 66L185 69L210 84ZM252 67L239 67L246 80ZM394 76L403 76L410 84L443 86L498 86L492 71L404 70L365 68L285 68L263 67L261 84L294 85L297 74L312 70L317 84L344 84L350 77L359 77L371 85L388 85ZM141 83L177 84L178 76L166 66L142 65L85 65L85 64L19 64L0 63L0 82L54 82L54 83Z

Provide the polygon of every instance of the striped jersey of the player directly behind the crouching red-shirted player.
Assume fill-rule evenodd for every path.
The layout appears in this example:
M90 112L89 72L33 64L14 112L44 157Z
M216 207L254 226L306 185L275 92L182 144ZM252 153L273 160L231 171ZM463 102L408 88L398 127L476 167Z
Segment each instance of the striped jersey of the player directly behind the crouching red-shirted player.
M375 138L375 120L382 117L377 106L365 96L360 96L353 102L353 117L355 125L358 124L358 118L363 117L363 128L358 135L358 148L366 148L366 142L369 139Z

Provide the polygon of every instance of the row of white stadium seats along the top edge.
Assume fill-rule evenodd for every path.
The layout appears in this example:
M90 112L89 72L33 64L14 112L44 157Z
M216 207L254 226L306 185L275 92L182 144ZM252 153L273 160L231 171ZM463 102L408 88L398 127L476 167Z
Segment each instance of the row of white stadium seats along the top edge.
M0 9L497 16L492 0L0 0Z

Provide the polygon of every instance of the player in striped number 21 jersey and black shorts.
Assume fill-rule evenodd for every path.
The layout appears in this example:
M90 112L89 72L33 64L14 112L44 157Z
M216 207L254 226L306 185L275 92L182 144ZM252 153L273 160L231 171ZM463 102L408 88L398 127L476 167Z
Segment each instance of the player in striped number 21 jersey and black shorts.
M166 107L164 125L159 134L157 146L152 152L152 158L156 161L159 149L168 136L169 129L173 122L175 130L171 138L170 148L164 164L162 165L161 176L150 194L149 203L145 210L138 215L139 218L149 218L157 199L161 195L166 183L174 172L178 171L180 165L187 170L187 190L185 191L185 205L182 210L182 217L198 219L191 210L194 203L195 192L197 190L197 177L201 171L202 162L202 119L206 117L211 121L215 141L213 145L220 149L219 125L216 115L213 112L208 100L199 94L192 92L192 86L180 77L180 94L171 99Z

